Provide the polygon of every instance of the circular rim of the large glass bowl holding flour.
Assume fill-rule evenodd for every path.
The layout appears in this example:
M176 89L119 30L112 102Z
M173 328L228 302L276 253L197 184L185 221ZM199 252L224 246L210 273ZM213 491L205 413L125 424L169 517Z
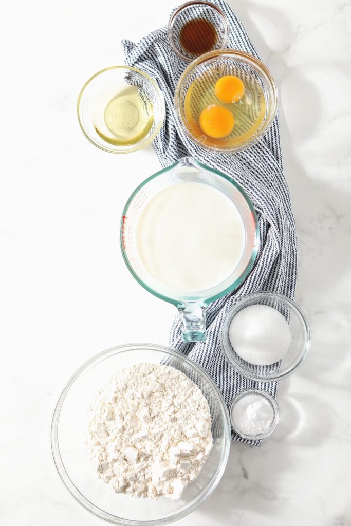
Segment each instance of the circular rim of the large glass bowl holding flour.
M77 489L76 485L74 484L72 479L69 477L64 467L64 463L62 461L61 452L59 448L59 442L58 442L58 424L59 424L59 416L61 413L61 409L62 409L62 406L64 404L64 401L66 399L69 389L71 389L72 385L79 378L79 376L81 376L81 374L84 371L88 371L89 369L92 369L97 363L115 354L122 353L122 352L128 352L129 350L141 350L141 349L149 349L149 350L157 351L160 353L167 353L168 355L174 356L178 359L182 359L188 365L193 367L199 373L200 376L205 377L208 383L210 384L210 386L213 388L213 392L217 398L217 401L220 407L220 411L222 414L222 421L223 421L223 427L224 427L224 443L222 447L222 452L221 452L222 454L220 456L220 461L218 463L216 472L213 474L212 478L208 481L208 483L206 484L206 487L197 495L196 499L188 503L186 507L184 507L183 509L180 509L179 512L176 512L172 517L165 517L162 519L156 519L156 520L151 520L151 521L150 520L137 521L137 520L123 519L123 518L117 517L116 515L112 515L111 513L108 513L102 510L101 508L98 508L95 504L89 501ZM174 351L173 349L170 349L168 347L163 347L161 345L154 345L153 343L129 343L127 345L120 345L120 346L112 347L110 349L107 349L106 351L102 351L98 353L97 355L93 356L92 358L87 360L85 363L83 363L83 365L79 367L73 373L71 378L69 378L68 382L66 383L56 403L52 422L51 422L50 439L51 439L52 456L53 456L54 464L59 474L59 477L61 478L62 482L64 483L69 493L71 493L72 497L74 497L74 499L79 504L81 504L83 508L90 511L97 517L104 519L108 522L111 522L113 524L118 524L119 526L162 526L163 524L171 524L172 522L175 522L176 520L179 520L185 517L186 515L188 515L190 512L194 511L216 489L220 479L222 478L222 475L224 473L224 470L225 470L225 467L228 461L228 457L229 457L230 419L229 419L229 413L228 413L227 406L224 403L224 400L218 390L218 387L216 386L212 378L210 378L210 376L207 374L207 372L202 367L200 367L197 363L195 363L193 360L190 360L190 358L183 355L182 353Z

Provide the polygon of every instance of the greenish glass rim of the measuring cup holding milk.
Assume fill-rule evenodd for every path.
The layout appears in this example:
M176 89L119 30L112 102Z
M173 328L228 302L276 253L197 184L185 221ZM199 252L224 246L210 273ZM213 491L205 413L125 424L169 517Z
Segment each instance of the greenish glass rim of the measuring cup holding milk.
M233 282L232 285L229 285L228 287L226 287L223 291L221 292L218 292L217 294L212 294L210 291L211 289L208 289L209 291L209 297L208 298L204 298L200 303L202 306L206 307L209 303L211 303L212 301L215 301L216 299L218 298L222 298L223 296L225 296L226 294L228 294L229 292L231 292L232 290L236 289L240 284L242 284L242 282L244 281L244 279L247 277L247 275L249 274L250 270L252 269L254 263L255 263L255 260L256 260L256 257L257 257L257 254L258 254L258 248L259 248L259 226L258 226L258 220L257 220L257 215L256 215L256 210L253 206L253 204L251 203L251 200L249 199L248 195L246 194L245 190L240 186L238 185L238 183L236 183L236 181L232 178L230 178L229 176L227 176L226 174L223 174L221 171L219 170L216 170L214 168L210 168L202 163L200 163L198 160L194 159L193 157L183 157L182 159L179 159L176 161L176 163L174 163L173 165L171 166L167 166L166 168L164 168L163 170L159 170L158 172L156 172L156 174L153 174L151 175L150 177L148 177L147 179L145 179L140 185L137 186L137 188L133 191L133 193L131 194L131 196L129 197L129 199L127 200L127 203L125 204L125 207L123 209L123 212L122 212L122 218L121 218L121 231L120 231L120 236L119 236L119 244L121 246L121 251L122 251L122 256L123 256L123 259L125 261L125 264L127 265L127 268L129 270L129 272L131 272L132 276L137 280L137 282L139 283L139 285L141 285L142 287L144 287L148 292L151 292L151 294L153 294L154 296L156 296L157 298L160 298L164 301L167 301L168 303L171 303L173 304L175 307L180 307L182 305L182 300L179 300L179 299L175 299L175 298L171 298L171 297L168 297L168 296L165 296L163 294L161 294L160 292L157 292L156 290L154 290L153 288L149 287L145 281L143 281L137 274L136 272L134 271L134 268L133 266L131 265L131 263L129 262L129 259L128 259L128 256L126 254L126 251L125 251L125 248L123 246L123 228L124 228L124 225L123 225L123 219L124 217L127 216L127 210L128 210L128 207L129 205L131 204L132 200L134 199L134 197L136 196L136 194L138 193L138 191L143 188L143 186L145 186L149 181L151 181L152 179L154 179L155 177L158 177L164 173L166 173L167 171L173 169L174 167L176 167L177 165L182 165L182 162L184 160L189 160L191 161L192 164L195 164L197 167L201 168L201 169L205 169L205 170L209 170L209 171L212 171L214 174L216 175L219 175L220 177L223 177L224 179L226 179L227 181L229 181L229 183L232 183L233 186L235 186L235 188L242 194L242 196L244 197L245 201L246 201L246 204L247 206L249 207L249 210L250 212L252 213L253 215L253 219L254 219L254 224L255 224L255 242L254 242L254 247L253 247L253 250L252 250L252 253L251 253L251 257L244 269L244 271L242 272L242 274ZM217 287L214 287L214 288L217 288ZM184 299L183 300L184 302L186 301L190 301L190 300L186 300Z

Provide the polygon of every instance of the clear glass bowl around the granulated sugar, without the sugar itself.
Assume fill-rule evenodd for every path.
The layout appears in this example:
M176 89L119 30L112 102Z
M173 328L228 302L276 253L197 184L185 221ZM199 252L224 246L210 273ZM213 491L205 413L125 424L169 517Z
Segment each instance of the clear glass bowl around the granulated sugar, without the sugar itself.
M251 305L273 307L283 314L289 323L292 335L290 346L283 359L272 365L257 366L253 365L253 363L248 363L237 355L230 343L230 323L240 310ZM283 380L283 378L292 375L305 361L311 343L309 323L302 309L285 296L271 292L256 292L239 299L227 313L220 338L224 354L234 368L246 378L261 382Z

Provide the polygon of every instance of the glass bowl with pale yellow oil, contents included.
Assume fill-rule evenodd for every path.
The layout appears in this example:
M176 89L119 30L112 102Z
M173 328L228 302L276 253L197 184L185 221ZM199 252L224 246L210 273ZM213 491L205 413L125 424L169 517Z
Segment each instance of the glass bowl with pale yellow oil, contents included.
M78 97L77 113L92 144L127 154L156 137L164 120L165 102L149 75L134 67L113 66L87 80Z

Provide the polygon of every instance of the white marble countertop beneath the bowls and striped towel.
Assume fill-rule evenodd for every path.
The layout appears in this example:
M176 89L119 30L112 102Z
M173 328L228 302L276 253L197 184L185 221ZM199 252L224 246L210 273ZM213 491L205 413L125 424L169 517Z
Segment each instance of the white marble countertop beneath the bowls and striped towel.
M305 365L280 383L282 411L260 448L233 443L214 494L179 526L349 526L350 45L340 0L232 0L280 93L285 175L299 240L296 301L312 326ZM98 526L55 472L49 422L88 357L167 344L175 309L129 275L118 220L159 169L151 147L94 148L76 98L122 63L119 40L164 25L175 0L2 5L0 524Z

